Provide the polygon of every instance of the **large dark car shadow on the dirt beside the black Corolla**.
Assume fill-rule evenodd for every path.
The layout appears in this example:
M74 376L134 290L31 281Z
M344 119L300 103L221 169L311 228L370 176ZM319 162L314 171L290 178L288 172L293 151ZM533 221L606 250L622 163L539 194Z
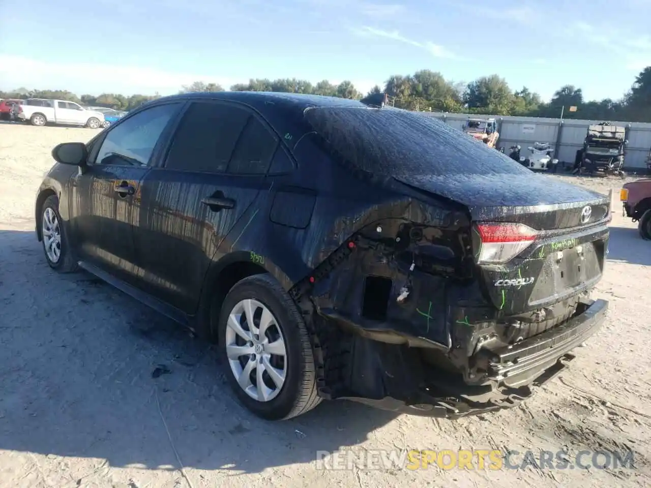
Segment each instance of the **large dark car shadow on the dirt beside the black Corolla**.
M173 469L173 444L186 467L260 472L363 442L395 418L330 401L259 420L214 346L87 273L55 273L34 232L0 230L0 308L0 450Z

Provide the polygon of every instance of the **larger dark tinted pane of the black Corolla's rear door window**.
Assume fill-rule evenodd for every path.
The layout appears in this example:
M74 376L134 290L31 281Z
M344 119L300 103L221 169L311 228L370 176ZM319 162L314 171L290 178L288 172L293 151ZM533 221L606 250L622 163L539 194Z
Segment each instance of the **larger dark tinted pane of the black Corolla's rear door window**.
M226 103L195 102L180 122L167 169L225 172L249 112Z

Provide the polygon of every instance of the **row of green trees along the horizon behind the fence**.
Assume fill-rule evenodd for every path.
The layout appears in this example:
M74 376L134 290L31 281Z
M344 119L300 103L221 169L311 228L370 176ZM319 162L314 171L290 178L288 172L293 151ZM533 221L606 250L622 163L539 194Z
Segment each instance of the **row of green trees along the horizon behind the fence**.
M182 87L180 93L218 92L224 88L217 83L195 81ZM293 92L359 100L363 94L351 81L339 84L327 80L312 84L302 79L250 79L248 83L232 85L233 91ZM386 92L392 105L402 109L435 112L474 113L492 115L521 115L533 117L582 118L589 120L622 120L624 122L651 122L651 66L644 68L634 79L631 89L618 100L585 100L581 88L565 85L549 100L523 87L512 90L499 75L483 76L471 83L454 83L439 72L421 70L411 75L393 75L383 87L376 86L370 93ZM103 93L99 96L77 96L67 90L0 91L0 98L58 98L81 103L132 110L160 95L135 94L125 96ZM576 109L570 107L576 107Z

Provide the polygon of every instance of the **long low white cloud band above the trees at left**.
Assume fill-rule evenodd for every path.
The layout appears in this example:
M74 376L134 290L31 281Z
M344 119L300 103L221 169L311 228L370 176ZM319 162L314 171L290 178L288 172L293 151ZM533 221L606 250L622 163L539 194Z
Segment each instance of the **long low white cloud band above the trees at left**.
M62 89L74 92L172 94L193 81L219 83L225 88L241 80L219 74L176 73L145 66L89 62L38 61L0 54L3 88Z

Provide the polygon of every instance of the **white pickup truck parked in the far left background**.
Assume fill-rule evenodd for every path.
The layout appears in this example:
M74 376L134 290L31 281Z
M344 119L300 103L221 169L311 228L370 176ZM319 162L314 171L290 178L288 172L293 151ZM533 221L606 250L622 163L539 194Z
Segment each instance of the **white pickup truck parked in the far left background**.
M13 113L18 120L29 122L33 126L45 124L70 124L98 129L104 125L104 114L86 110L78 103L66 100L44 100L28 98L13 107Z

